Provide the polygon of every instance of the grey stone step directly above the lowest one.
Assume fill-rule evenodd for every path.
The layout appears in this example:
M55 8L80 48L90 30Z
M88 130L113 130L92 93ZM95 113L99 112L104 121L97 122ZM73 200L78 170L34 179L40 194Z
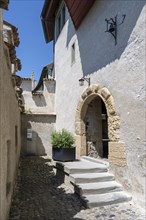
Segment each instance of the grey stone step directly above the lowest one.
M108 192L122 191L122 186L116 181L96 182L75 185L75 192L82 195L102 194Z

